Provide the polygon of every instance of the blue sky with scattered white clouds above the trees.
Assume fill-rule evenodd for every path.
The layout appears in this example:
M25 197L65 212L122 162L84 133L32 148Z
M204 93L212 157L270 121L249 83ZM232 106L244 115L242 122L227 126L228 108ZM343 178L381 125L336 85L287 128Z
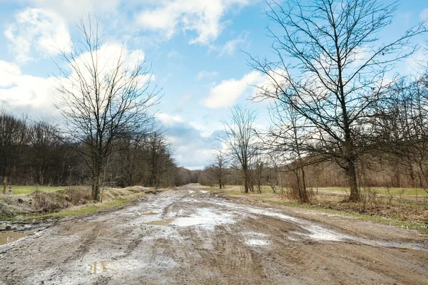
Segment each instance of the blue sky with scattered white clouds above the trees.
M428 20L427 0L399 3L382 40ZM162 95L153 112L175 160L203 168L220 147L218 134L230 107L258 110L258 124L269 124L267 103L250 100L253 86L265 78L251 70L243 52L270 54L265 9L264 0L0 0L0 108L60 118L53 104L58 49L67 51L79 39L76 22L91 14L101 21L106 45L125 43L151 64L152 83ZM410 60L399 72L410 72L409 66Z

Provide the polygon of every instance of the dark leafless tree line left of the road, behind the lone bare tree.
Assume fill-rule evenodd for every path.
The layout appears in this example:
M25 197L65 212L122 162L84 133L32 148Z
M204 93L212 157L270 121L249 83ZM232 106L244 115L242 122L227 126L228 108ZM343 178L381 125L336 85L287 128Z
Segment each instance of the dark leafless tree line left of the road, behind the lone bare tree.
M53 120L31 120L0 110L0 176L10 185L91 185L91 170ZM112 142L103 165L101 186L170 187L196 182L176 165L173 150L161 132ZM82 151L82 150L79 150Z

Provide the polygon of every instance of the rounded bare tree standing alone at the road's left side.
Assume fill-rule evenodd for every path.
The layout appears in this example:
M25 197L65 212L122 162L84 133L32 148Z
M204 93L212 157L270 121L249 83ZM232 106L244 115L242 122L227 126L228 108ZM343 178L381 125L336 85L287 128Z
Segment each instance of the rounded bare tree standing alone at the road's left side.
M156 91L149 89L151 69L142 55L127 51L123 44L104 45L98 21L81 20L78 28L81 41L73 42L71 52L61 52L66 67L60 67L58 76L57 108L66 135L79 145L76 150L91 172L93 199L99 201L103 166L114 151L113 141L146 129Z

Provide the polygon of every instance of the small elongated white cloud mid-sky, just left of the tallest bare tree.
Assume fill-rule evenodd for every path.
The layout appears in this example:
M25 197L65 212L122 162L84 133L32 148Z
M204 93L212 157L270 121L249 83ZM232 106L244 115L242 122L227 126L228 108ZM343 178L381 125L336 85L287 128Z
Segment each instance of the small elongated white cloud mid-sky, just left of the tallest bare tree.
M202 100L202 104L208 108L225 108L235 105L236 100L248 91L251 86L265 81L265 77L258 71L245 74L240 80L229 79L222 81L210 90L210 95Z

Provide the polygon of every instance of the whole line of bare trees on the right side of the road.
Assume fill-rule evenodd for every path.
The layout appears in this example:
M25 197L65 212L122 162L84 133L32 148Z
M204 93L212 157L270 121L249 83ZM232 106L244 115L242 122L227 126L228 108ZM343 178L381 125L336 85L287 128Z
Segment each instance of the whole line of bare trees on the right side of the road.
M375 0L267 1L272 54L248 54L248 64L267 78L253 100L267 100L271 125L255 130L253 110L231 110L220 138L230 165L220 167L217 154L207 169L223 177L218 184L238 171L245 192L260 191L265 168L264 183L279 183L272 170L287 175L302 202L329 171L349 187L350 201L373 183L370 171L387 170L395 180L378 186L427 187L428 72L396 69L419 51L414 39L426 35L427 23L385 40L379 35L397 9Z

